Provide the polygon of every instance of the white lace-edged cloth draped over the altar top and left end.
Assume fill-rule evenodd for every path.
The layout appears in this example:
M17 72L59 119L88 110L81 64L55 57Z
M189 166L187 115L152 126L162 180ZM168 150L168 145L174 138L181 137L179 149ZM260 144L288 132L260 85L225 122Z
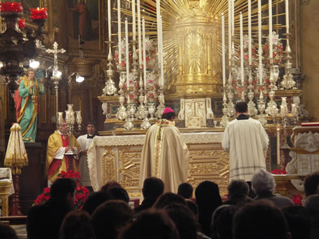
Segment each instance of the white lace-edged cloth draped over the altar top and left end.
M181 133L185 144L212 144L220 143L223 132L190 132ZM94 191L100 190L105 184L102 178L101 158L105 153L105 146L142 146L145 135L96 136L88 150L88 164L91 184Z

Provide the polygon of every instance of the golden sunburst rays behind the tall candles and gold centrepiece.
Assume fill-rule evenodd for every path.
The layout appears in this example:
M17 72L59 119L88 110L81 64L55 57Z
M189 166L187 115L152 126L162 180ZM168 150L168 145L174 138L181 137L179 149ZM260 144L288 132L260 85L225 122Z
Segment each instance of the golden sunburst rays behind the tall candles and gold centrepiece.
M136 0L137 1L137 0ZM135 1L135 3L136 3ZM132 1L127 1L129 4ZM265 3L266 2L266 3ZM262 33L263 43L264 39L268 37L268 1L262 1L261 6L261 20L262 20ZM279 18L285 15L285 0L273 0L273 31L279 32L284 28L279 22ZM174 79L178 74L178 39L176 38L176 20L182 15L191 15L193 8L200 8L205 14L211 15L212 19L215 18L221 25L221 14L225 15L225 48L226 59L228 55L228 0L162 0L160 1L160 13L162 15L162 29L163 29L163 46L164 46L164 81L165 85L174 83ZM137 6L136 6L137 8ZM117 8L113 9L117 11ZM121 9L122 14L127 17L132 16L130 10ZM240 45L240 13L243 16L243 30L244 34L248 34L248 1L247 0L234 0L234 47L235 58L238 59L237 49ZM137 15L136 15L137 17ZM124 19L122 17L122 20ZM145 31L146 37L150 39L157 39L157 12L156 1L141 0L141 18L145 18ZM137 24L136 18L136 24ZM114 21L117 22L117 21ZM285 22L285 21L283 21ZM124 22L122 22L124 24ZM137 31L137 25L136 25ZM136 33L137 35L137 33ZM132 36L132 33L130 33ZM254 46L258 46L258 0L252 0L252 39L254 39ZM221 61L221 31L219 31L219 61ZM258 55L258 54L257 54ZM256 62L255 62L256 64ZM227 65L227 64L226 64Z

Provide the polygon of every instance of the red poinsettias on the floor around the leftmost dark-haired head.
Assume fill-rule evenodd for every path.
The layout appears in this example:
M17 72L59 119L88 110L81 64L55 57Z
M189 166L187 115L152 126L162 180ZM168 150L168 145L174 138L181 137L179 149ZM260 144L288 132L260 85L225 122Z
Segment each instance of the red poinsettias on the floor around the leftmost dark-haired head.
M81 210L86 198L89 196L89 189L86 189L86 187L79 182L79 179L81 179L79 172L73 172L73 170L67 172L62 171L60 175L58 175L58 178L74 179L75 183L77 184L77 188L75 189L74 206L77 210ZM42 205L46 203L49 198L50 188L45 188L43 193L39 195L36 200L34 200L32 206Z

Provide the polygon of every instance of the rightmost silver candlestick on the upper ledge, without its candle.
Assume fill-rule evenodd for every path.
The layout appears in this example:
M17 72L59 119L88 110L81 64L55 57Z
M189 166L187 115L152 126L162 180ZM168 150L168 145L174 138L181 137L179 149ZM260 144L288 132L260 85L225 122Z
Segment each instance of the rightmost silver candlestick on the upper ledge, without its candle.
M294 77L292 76L292 57L290 56L290 53L292 53L292 50L289 46L289 35L287 34L287 46L286 46L286 54L287 54L287 61L285 64L285 74L282 76L282 82L280 83L280 86L282 90L285 89L297 89L296 88L296 82L294 81Z

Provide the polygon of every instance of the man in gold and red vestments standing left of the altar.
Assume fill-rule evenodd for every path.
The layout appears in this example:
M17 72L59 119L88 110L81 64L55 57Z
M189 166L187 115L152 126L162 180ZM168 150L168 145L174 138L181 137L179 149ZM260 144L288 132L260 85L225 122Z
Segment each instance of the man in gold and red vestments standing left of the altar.
M72 147L70 147L69 135L67 135L67 123L63 122L58 130L54 131L48 137L48 146L46 149L46 163L48 167L48 183L53 183L58 174L62 171L79 171L79 144L72 135ZM71 149L74 155L65 156L65 153ZM71 161L69 163L69 161ZM70 168L72 165L72 168Z

